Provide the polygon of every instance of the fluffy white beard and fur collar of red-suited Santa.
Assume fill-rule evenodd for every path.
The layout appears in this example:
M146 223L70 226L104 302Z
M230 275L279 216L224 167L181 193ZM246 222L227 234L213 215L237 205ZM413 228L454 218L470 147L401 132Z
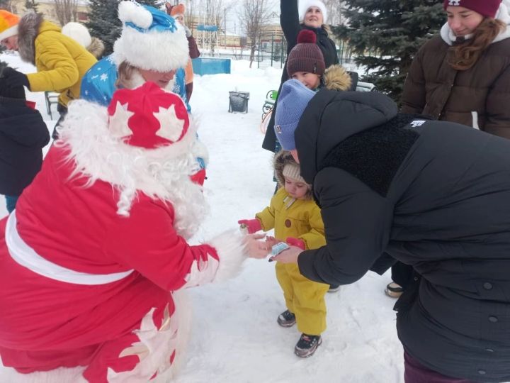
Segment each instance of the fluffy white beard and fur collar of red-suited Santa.
M110 183L120 194L120 216L129 216L137 194L142 192L172 204L179 235L188 239L196 233L208 206L202 188L190 179L200 168L193 152L193 120L178 143L147 150L110 134L106 107L77 100L69 104L69 113L57 131L60 139L55 145L69 150L67 160L74 162L70 177L85 177L84 187L92 187L98 179Z

